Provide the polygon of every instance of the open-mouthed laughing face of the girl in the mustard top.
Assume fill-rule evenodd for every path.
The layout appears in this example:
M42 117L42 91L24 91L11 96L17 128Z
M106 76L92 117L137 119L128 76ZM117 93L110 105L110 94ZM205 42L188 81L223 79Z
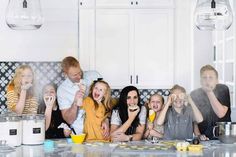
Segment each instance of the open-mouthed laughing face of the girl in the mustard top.
M93 99L100 103L106 93L106 86L101 82L97 82L93 89Z

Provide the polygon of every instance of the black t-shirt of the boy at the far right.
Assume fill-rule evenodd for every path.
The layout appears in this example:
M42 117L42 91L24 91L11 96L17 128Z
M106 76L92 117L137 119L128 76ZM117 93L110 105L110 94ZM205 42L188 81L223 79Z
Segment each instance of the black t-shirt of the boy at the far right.
M210 101L203 91L202 88L196 89L191 92L191 97L195 102L198 109L201 111L203 116L203 122L198 124L201 134L205 134L208 138L213 139L213 127L216 125L216 122L230 122L231 121L231 109L230 109L230 95L229 88L223 84L217 84L213 90L218 101L228 107L228 111L225 116L219 118L210 104Z

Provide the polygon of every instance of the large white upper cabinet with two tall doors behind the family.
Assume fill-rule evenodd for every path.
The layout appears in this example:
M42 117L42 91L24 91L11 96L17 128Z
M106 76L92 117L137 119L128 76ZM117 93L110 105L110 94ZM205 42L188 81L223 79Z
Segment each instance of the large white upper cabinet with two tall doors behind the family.
M97 0L96 5L99 2L106 1ZM174 77L173 18L173 8L80 9L82 68L97 70L113 89L127 85L170 88Z

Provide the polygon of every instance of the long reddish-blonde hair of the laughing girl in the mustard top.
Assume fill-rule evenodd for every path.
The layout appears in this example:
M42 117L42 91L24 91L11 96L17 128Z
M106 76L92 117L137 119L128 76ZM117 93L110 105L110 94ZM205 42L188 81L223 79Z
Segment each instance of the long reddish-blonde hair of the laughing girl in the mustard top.
M96 83L102 83L106 86L106 92L104 99L102 99L102 104L105 106L106 112L110 112L112 110L111 88L109 84L103 80L94 81L89 89L89 97L91 97L94 101L95 110L98 108L98 103L94 100L92 93Z

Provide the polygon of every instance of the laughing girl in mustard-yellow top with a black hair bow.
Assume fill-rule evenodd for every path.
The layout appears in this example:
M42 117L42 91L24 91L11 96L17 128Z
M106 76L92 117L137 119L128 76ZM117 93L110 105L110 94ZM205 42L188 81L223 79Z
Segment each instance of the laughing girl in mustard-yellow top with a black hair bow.
M108 117L111 115L112 109L111 89L107 82L103 80L95 81L89 91L89 96L86 97L80 109L86 112L84 122L84 133L86 134L85 141L109 141L109 129L104 130L104 123L109 127Z

